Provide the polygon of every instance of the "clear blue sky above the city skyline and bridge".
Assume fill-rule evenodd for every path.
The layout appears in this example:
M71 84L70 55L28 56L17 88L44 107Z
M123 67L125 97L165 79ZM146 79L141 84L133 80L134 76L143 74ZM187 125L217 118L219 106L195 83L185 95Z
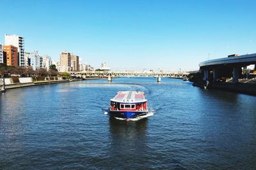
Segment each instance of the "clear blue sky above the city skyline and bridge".
M1 0L4 34L25 38L25 51L58 60L79 55L96 69L195 70L204 60L256 53L252 0Z

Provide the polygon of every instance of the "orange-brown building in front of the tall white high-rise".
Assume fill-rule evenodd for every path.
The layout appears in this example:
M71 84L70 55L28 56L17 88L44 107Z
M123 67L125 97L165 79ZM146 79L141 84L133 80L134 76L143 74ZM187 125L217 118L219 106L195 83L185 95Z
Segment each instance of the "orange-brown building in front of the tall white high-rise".
M12 45L4 45L3 48L3 62L7 66L19 66L18 65L18 48Z

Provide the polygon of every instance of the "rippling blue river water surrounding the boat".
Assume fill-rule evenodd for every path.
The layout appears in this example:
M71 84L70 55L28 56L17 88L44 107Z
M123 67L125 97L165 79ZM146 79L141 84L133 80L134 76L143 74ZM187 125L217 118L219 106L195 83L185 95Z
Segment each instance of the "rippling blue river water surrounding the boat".
M120 90L151 117L104 115ZM0 94L0 169L254 169L256 97L182 80L116 78Z

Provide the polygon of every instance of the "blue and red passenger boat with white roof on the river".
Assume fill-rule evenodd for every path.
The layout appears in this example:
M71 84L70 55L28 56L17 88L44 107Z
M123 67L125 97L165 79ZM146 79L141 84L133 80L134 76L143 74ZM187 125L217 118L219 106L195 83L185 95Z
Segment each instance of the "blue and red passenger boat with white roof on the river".
M122 91L110 99L110 116L129 120L147 115L147 113L147 99L145 99L144 92Z

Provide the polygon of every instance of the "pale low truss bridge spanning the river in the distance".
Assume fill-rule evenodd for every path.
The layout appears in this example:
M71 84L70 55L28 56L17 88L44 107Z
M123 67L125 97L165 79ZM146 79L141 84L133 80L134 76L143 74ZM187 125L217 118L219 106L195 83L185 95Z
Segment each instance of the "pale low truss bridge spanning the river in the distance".
M117 77L157 77L157 81L161 81L161 78L186 78L189 73L186 72L137 72L137 71L70 71L70 76L73 78L108 78L108 81L112 81L112 78Z

